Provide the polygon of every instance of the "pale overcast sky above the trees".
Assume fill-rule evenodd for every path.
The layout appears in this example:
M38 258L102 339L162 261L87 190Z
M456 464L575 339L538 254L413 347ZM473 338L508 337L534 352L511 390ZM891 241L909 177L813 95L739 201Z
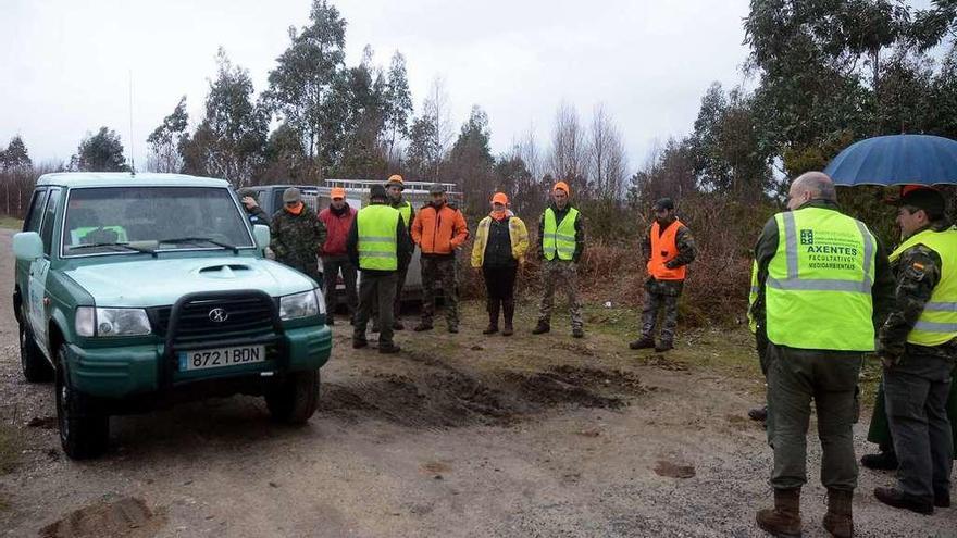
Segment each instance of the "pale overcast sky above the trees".
M339 0L347 63L371 45L377 63L405 54L418 114L433 79L452 120L487 113L496 153L530 128L547 146L558 104L583 123L604 103L623 133L630 170L656 140L691 130L701 96L743 82L747 0ZM187 96L201 117L217 47L257 93L288 27L311 0L0 0L0 145L23 136L35 163L69 160L105 125L137 167L146 137ZM133 79L133 126L129 79ZM544 149L544 148L543 148Z

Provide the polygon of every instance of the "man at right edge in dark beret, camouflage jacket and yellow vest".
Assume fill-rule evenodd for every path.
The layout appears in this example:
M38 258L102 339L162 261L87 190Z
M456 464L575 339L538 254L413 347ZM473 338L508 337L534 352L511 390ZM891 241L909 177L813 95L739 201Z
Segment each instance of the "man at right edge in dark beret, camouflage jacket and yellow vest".
M947 396L957 361L957 228L944 220L940 191L916 188L900 197L904 242L891 253L896 302L879 334L884 403L897 485L877 488L891 506L931 514L950 505L954 446Z

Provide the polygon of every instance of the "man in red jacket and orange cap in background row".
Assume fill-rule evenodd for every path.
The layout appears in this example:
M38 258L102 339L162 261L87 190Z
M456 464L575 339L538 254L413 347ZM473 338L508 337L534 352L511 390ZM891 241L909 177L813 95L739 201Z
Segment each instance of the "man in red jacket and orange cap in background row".
M346 286L346 306L349 310L349 320L355 321L356 309L359 308L359 296L356 292L356 266L349 261L346 252L346 240L349 238L349 229L356 220L356 210L346 202L346 190L335 187L330 192L330 207L319 212L319 220L328 232L325 243L322 246L323 292L325 293L325 318L328 325L333 325L333 312L336 308L336 283L339 272L343 273L343 284Z

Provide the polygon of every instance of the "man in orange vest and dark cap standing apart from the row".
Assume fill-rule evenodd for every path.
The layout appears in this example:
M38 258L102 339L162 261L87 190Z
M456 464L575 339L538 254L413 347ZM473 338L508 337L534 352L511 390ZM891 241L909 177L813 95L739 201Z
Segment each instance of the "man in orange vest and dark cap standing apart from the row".
M648 280L645 283L645 309L642 312L642 337L631 342L631 349L655 348L668 351L674 347L678 326L678 298L684 286L687 264L695 260L695 240L687 226L674 214L674 202L662 198L655 202L655 221L645 235L642 252L648 260ZM664 309L661 337L655 343L658 312Z

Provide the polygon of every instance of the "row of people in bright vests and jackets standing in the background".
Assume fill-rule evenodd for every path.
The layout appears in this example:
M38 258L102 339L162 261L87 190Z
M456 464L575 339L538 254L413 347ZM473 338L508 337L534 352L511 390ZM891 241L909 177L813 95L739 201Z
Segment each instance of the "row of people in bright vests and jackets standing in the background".
M353 325L352 343L357 349L368 346L365 333L371 322L372 331L380 334L378 351L399 351L394 335L405 329L399 306L415 248L421 254L423 301L421 320L413 330L433 329L435 300L440 290L446 328L449 333L459 331L456 253L470 237L465 218L449 202L442 184L430 187L432 199L418 211L405 199L403 190L402 177L393 175L384 185L373 185L369 204L356 210L346 201L344 189L333 188L330 205L320 211L318 218L306 209L302 195L295 187L286 189L283 209L272 217L252 197L243 198L250 221L270 225L270 246L276 260L323 283L330 325L335 323L335 289L341 275ZM488 325L483 334L500 331L511 336L514 334L515 279L532 241L525 223L509 209L505 192L496 192L489 204L488 215L475 228L470 261L485 281ZM667 351L673 347L678 297L686 266L695 258L695 246L687 227L678 221L672 200L659 200L655 210L656 218L642 249L648 259L649 299L644 309L642 337L631 347ZM555 293L561 290L568 298L571 334L574 338L584 337L577 275L585 251L585 221L571 203L571 189L564 182L551 188L548 207L538 222L535 246L543 293L532 334L551 330ZM315 263L316 255L322 260L322 272ZM660 340L656 342L654 335L661 312L664 323Z

